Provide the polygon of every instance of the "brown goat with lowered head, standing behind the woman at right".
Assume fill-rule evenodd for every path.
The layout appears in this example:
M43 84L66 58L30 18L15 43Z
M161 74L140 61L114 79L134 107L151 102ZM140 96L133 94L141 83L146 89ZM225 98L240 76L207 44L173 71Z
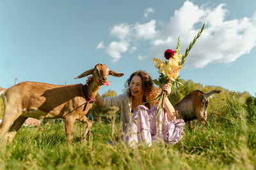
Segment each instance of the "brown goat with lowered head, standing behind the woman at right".
M192 129L191 121L198 118L198 120L207 125L207 108L209 98L215 94L220 93L221 90L212 90L205 94L200 90L194 90L185 96L179 103L175 104L174 108L178 111L177 118L182 118L184 122L188 122L189 129Z

